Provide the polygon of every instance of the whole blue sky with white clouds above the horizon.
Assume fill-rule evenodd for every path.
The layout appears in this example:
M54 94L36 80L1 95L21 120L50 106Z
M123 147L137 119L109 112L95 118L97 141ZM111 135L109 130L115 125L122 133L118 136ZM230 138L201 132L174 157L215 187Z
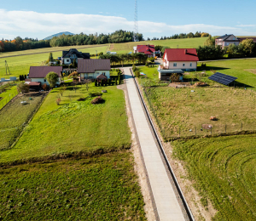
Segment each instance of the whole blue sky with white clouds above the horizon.
M254 8L253 0L138 0L139 32L145 38L189 31L256 36ZM133 31L134 0L12 0L0 4L0 14L0 38Z

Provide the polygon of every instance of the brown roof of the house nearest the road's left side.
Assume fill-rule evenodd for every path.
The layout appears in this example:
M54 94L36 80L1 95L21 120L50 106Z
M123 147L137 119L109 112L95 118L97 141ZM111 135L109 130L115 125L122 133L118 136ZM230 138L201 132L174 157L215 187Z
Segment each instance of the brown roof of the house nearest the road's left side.
M79 59L79 73L94 73L95 71L110 71L110 59Z

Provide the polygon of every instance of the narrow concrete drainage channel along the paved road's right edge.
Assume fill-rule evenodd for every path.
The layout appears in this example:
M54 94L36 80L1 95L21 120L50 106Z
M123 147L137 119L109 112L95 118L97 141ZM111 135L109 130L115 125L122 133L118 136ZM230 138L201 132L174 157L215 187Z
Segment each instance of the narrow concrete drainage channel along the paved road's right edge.
M130 68L130 71L131 71L131 68ZM138 93L139 93L139 96L140 96L141 100L143 101L143 107L144 107L144 109L145 109L145 111L146 111L146 114L147 114L147 116L148 116L148 120L149 120L149 122L150 122L150 125L151 125L151 127L153 128L153 132L154 132L154 136L155 136L155 138L156 138L156 141L157 141L157 143L158 143L159 146L160 146L160 150L161 150L161 152L162 152L162 155L164 156L164 159L165 159L165 162L166 162L166 166L168 167L168 170L169 170L169 172L170 172L171 175L172 175L172 179L173 179L174 184L175 184L175 186L176 186L176 188L177 188L177 192L178 192L178 194L180 195L181 200L183 201L183 207L184 207L185 211L187 212L187 215L188 215L188 217L189 217L189 220L195 221L195 218L194 218L194 216L193 216L193 213L192 213L191 210L190 210L189 204L187 203L187 201L186 201L186 199L185 199L185 196L183 195L183 191L182 191L180 185L178 184L178 181L177 181L177 178L176 178L176 176L175 176L175 173L174 173L173 170L172 170L171 164L170 164L169 161L168 161L168 158L167 158L167 156L166 156L166 151L164 150L163 145L161 144L160 137L159 137L159 135L158 135L158 133L157 133L155 127L154 127L154 122L153 122L152 119L151 119L150 113L148 112L147 105L146 105L146 103L144 102L143 95L142 95L142 93L141 93L141 91L140 91L140 88L138 87L137 81L136 81L136 79L135 79L135 77L134 77L132 71L131 71L131 75L132 75L132 77L133 77L134 82L136 83L137 91L138 91Z

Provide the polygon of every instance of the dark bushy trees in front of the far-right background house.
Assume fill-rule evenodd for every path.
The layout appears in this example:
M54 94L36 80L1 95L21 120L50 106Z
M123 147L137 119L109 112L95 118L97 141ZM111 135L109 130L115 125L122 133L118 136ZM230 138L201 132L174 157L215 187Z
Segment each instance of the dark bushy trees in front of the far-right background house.
M246 58L256 56L256 44L253 39L243 40L239 45L230 44L224 49L215 47L215 37L209 36L204 47L196 48L199 59L222 59L227 54L228 58Z

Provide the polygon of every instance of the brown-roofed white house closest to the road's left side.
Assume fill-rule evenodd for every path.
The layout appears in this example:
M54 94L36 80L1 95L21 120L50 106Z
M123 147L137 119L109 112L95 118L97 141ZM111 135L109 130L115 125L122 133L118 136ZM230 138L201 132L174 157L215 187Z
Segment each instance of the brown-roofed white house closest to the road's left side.
M110 77L110 59L79 59L78 72L81 80Z

